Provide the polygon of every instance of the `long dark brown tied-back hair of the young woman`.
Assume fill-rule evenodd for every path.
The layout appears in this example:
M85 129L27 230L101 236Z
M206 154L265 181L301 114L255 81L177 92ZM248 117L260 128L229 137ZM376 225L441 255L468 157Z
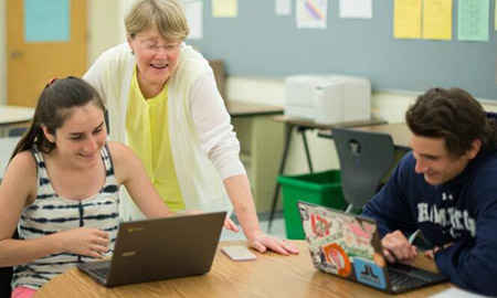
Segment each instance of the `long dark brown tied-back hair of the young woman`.
M46 139L41 126L46 126L49 132L55 135L55 130L71 116L71 108L83 107L88 103L94 103L105 113L101 96L85 81L74 76L51 79L38 99L30 128L15 146L10 159L21 151L31 149L33 145L36 145L43 153L52 152L55 143Z

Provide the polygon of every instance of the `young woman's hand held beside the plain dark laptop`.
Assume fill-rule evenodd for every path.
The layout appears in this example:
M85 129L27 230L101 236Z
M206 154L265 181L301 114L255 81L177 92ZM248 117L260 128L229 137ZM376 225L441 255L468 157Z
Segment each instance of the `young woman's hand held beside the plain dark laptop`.
M57 234L64 252L99 258L108 251L108 233L98 228L78 227Z

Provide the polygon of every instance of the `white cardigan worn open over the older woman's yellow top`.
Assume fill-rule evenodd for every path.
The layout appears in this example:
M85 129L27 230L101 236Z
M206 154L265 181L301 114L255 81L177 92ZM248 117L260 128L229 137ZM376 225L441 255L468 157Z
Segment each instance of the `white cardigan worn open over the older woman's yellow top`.
M102 54L84 79L104 99L109 116L109 138L127 143L126 108L136 66L123 43ZM208 61L182 45L178 67L168 82L168 117L171 152L187 209L232 211L222 181L245 174L240 142L218 92ZM128 195L121 196L121 217L142 217Z

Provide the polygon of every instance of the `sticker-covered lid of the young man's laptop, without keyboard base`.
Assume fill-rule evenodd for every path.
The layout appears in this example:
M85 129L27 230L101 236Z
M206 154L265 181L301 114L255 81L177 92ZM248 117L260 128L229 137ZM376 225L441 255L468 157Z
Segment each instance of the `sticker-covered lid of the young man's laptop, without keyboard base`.
M374 222L303 202L298 206L316 268L387 289L387 260Z

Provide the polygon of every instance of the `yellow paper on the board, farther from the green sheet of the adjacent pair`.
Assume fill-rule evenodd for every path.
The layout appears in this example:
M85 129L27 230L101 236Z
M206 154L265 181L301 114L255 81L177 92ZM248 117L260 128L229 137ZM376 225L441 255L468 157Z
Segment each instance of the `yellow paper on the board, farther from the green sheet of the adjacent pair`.
M395 0L393 10L393 38L421 38L422 0Z

